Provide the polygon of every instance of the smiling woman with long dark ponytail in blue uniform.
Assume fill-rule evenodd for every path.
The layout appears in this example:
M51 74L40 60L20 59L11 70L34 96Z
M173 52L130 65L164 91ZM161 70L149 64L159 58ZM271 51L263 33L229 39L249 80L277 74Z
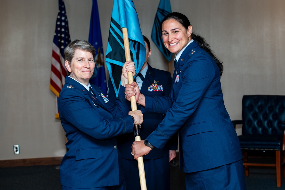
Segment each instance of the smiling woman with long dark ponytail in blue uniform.
M136 95L137 103L145 106L143 113L166 113L154 132L133 143L134 158L163 147L178 130L186 189L246 189L239 139L223 102L222 62L181 13L163 19L162 38L176 54L171 95L142 95L136 83L125 89L126 98Z

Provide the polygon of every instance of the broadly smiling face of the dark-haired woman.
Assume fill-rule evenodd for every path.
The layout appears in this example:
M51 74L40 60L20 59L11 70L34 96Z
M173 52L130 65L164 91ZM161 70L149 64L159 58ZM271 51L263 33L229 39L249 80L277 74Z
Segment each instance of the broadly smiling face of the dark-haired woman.
M164 46L174 54L178 54L190 42L192 26L187 29L175 19L169 19L162 23L162 39Z

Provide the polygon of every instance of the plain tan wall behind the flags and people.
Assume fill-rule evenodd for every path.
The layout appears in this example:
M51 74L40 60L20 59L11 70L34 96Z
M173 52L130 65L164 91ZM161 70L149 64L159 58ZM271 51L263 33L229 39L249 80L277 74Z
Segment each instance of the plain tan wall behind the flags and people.
M105 53L113 1L97 1ZM170 1L172 11L188 16L194 32L224 62L221 83L231 119L241 119L243 95L285 94L285 1ZM150 38L159 0L134 3ZM65 0L65 5L71 39L88 40L92 1ZM55 96L49 90L57 11L57 0L0 2L0 160L65 154L65 132L54 119ZM150 43L150 64L167 70ZM14 144L20 145L19 155L13 154Z

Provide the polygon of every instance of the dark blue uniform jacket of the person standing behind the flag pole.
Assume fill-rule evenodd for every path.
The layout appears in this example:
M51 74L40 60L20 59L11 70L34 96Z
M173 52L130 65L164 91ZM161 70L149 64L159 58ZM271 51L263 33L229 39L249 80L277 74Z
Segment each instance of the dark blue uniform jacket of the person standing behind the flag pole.
M152 87L156 81L157 85L162 85L163 91L149 91L148 87ZM171 92L172 78L170 72L163 71L159 69L152 68L148 64L148 70L143 80L143 85L141 87L141 93L150 96L168 96ZM108 82L108 98L115 101L116 95L111 81ZM131 104L129 103L130 110ZM137 104L137 109L141 110L141 106ZM156 129L158 124L163 120L165 114L161 113L145 113L143 115L144 122L140 128L141 140L144 140L152 131ZM121 152L122 158L133 160L134 157L130 154L131 146L135 141L135 136L133 133L123 134L117 137L118 148ZM172 138L160 149L154 149L149 154L143 156L144 159L156 159L169 157L169 150L176 150L178 146L178 135L174 134Z

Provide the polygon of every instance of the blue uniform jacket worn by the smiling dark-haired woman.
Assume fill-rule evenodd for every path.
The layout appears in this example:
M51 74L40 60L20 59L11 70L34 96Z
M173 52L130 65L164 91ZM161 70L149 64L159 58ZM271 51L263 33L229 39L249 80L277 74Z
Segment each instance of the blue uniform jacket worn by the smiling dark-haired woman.
M223 102L219 68L196 41L180 56L172 85L168 97L145 96L143 113L166 113L148 141L161 148L179 130L180 168L184 165L185 173L241 160L239 139Z

